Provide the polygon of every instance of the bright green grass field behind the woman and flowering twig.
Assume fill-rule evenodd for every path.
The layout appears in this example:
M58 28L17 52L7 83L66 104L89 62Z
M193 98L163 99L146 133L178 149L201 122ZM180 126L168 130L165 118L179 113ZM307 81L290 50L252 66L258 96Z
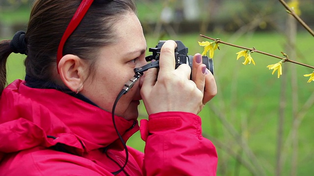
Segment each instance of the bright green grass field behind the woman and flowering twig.
M222 41L238 44L281 56L280 51L285 51L285 36L279 33L254 33L233 39L231 34L204 34L212 38L220 38ZM164 38L167 39L167 38ZM173 40L181 40L189 48L189 54L202 52L203 47L198 41L206 41L199 34L181 35ZM155 47L158 39L147 36L148 47ZM244 60L236 61L236 52L241 49L227 45L220 45L220 50L215 51L214 69L215 79L218 86L218 94L212 99L200 113L203 119L203 132L217 146L219 155L218 175L250 176L248 166L244 167L235 160L235 156L241 156L249 166L257 168L258 163L265 175L274 175L277 156L277 129L282 92L286 95L286 108L284 110L283 124L283 175L288 175L291 167L292 144L291 129L292 106L297 106L300 115L298 129L297 174L309 175L314 171L314 120L313 108L303 110L313 102L308 102L313 94L314 83L307 83L308 77L303 74L313 70L304 66L296 66L291 63L283 64L283 74L277 78L277 73L272 75L271 70L266 68L269 64L275 64L280 60L270 58L258 53L252 57L256 66L241 64ZM308 33L300 33L297 36L297 58L290 58L308 65L314 65L313 38ZM150 54L150 53L147 53ZM23 79L25 70L23 66L25 56L11 54L7 64L8 83L14 79ZM293 68L294 66L294 68ZM296 74L292 70L296 70ZM295 75L292 79L292 75ZM287 84L283 87L283 80ZM292 89L292 82L296 88ZM292 102L292 96L297 96L298 101ZM182 92L184 96L184 92ZM308 103L306 103L308 102ZM304 113L304 115L302 115ZM140 118L146 118L143 106L140 107ZM225 121L224 121L225 120ZM244 141L253 156L243 150L241 142ZM216 141L216 143L215 143ZM144 150L145 143L140 139L139 132L135 133L128 144L140 151ZM234 156L233 156L234 154ZM253 158L253 160L252 160ZM253 169L253 170L254 170ZM258 172L259 170L257 170ZM262 174L261 174L262 175Z

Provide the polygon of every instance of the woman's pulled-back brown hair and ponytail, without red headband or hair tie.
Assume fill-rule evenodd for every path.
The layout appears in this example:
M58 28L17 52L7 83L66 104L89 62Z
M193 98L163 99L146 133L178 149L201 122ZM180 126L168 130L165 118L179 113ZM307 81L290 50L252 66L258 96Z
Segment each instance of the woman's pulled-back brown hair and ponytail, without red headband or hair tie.
M61 37L81 0L36 0L26 31L26 75L29 80L41 80L41 87L53 82L56 74L56 52ZM133 0L94 0L78 28L64 45L63 54L75 54L86 59L93 72L100 47L112 44L114 22L128 12L136 12ZM0 42L0 93L6 84L6 60L12 53L10 40ZM26 80L27 82L27 80Z

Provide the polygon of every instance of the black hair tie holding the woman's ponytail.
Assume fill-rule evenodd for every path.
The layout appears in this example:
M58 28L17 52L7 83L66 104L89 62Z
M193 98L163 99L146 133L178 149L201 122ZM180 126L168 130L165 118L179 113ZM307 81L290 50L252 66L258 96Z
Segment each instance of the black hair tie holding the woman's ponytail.
M20 53L27 55L27 45L25 41L25 32L18 31L14 34L13 39L10 43L10 47L14 53Z

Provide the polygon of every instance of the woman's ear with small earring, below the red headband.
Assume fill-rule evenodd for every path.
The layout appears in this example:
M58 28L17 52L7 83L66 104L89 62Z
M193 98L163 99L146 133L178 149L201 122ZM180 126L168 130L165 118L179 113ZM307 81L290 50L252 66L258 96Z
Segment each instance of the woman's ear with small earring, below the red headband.
M74 92L79 92L83 89L84 64L82 59L73 54L63 56L59 62L58 69L62 82Z

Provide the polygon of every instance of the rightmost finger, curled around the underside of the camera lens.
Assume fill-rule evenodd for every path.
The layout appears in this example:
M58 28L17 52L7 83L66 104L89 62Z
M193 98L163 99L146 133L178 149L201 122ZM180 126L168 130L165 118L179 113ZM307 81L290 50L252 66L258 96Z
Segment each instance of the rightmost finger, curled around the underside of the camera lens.
M211 100L217 94L217 86L214 76L209 70L208 74L205 76L205 90L203 104L205 105L209 100Z

